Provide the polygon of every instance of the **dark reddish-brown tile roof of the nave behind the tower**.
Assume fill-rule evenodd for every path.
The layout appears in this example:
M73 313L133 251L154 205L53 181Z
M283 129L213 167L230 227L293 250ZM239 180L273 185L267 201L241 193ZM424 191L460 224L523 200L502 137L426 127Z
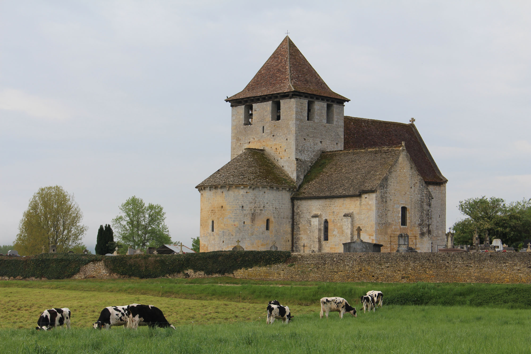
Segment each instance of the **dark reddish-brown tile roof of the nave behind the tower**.
M345 116L345 149L406 144L406 150L425 182L446 183L414 124Z

